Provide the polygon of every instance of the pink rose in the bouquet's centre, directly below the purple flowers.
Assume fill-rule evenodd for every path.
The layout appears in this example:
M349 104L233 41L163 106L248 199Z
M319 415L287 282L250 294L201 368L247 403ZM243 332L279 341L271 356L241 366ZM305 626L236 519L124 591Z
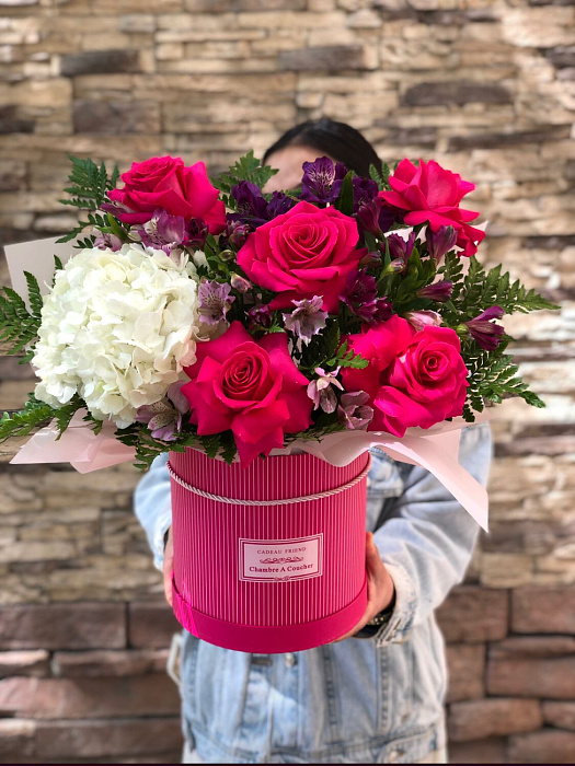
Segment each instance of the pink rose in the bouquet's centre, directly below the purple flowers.
M272 309L322 295L322 309L337 313L345 278L365 255L356 249L358 236L353 218L298 202L249 235L238 264L252 282L279 293Z

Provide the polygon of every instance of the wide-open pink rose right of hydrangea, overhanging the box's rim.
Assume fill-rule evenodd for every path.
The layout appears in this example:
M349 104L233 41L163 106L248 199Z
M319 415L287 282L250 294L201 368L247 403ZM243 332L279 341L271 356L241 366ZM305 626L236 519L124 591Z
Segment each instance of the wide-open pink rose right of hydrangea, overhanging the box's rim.
M198 344L196 356L185 368L192 380L182 386L189 422L199 436L231 429L242 466L281 448L284 433L311 425L309 380L294 364L285 333L254 340L232 322L217 340Z

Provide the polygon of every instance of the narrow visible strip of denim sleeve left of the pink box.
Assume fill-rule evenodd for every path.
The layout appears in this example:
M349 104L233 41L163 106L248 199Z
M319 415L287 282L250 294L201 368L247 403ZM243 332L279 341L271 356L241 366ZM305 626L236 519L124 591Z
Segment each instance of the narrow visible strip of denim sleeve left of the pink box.
M143 526L153 554L153 564L162 569L164 535L172 525L168 454L159 455L140 479L134 495L134 510Z

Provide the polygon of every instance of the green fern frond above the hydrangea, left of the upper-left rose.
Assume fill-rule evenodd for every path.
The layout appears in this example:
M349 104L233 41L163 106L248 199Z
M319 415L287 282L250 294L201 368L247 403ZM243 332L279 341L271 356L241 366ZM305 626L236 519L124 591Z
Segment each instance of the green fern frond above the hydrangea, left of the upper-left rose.
M77 156L69 155L72 162L72 170L68 176L70 186L64 190L70 195L70 199L60 199L62 205L69 205L79 210L88 210L85 221L79 221L78 225L72 231L60 237L58 242L70 242L81 234L84 229L91 227L103 232L115 233L122 239L126 237L125 230L122 224L114 219L113 216L99 211L102 202L106 200L106 194L116 187L119 176L117 165L114 165L112 175L108 177L105 164L102 162L96 165L92 160L82 160ZM89 235L84 240L78 240L79 247L92 247L95 236Z

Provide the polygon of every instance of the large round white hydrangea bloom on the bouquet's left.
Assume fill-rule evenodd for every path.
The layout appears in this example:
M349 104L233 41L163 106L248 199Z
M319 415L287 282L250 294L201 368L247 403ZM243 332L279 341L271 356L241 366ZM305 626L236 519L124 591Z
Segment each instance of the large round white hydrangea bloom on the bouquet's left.
M56 276L32 363L36 396L58 407L78 393L99 419L125 428L196 360L196 269L126 244L82 249Z

